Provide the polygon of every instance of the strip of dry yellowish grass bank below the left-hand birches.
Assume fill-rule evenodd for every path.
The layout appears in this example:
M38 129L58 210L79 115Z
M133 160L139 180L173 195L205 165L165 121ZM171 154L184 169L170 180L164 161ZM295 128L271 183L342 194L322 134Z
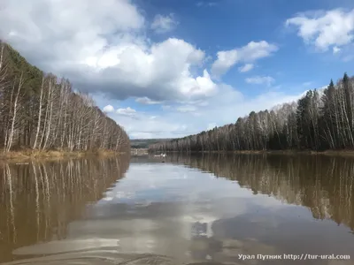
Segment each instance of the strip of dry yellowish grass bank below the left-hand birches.
M4 152L0 151L0 160L31 160L31 159L59 159L59 158L76 158L84 156L109 156L122 155L112 150L89 150L89 151L67 151L67 150L20 150Z

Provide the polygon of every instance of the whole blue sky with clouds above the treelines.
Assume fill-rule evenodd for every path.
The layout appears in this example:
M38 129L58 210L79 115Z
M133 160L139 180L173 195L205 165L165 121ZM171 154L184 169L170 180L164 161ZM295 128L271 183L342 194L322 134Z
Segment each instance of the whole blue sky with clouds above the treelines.
M353 74L352 0L2 0L0 25L131 139L235 123Z

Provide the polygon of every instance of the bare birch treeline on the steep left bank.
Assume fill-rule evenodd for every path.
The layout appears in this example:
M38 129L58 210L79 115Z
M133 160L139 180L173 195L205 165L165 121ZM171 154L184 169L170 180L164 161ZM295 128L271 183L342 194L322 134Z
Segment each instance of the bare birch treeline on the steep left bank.
M128 152L122 127L59 79L28 64L0 41L0 150L110 149Z

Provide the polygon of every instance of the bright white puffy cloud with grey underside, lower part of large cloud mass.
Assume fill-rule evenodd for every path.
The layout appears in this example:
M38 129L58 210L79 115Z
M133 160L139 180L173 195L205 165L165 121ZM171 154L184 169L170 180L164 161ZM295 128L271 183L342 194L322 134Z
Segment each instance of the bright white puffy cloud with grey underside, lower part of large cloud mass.
M102 87L106 93L118 99L129 96L148 97L152 101L193 99L212 95L217 89L209 72L194 76L190 69L204 60L204 51L188 42L167 39L144 48L127 44L125 47L106 50L107 58L116 58L111 66L99 65L102 57L92 59L91 69L99 72L85 72L81 79L87 84ZM138 77L138 78L137 78Z

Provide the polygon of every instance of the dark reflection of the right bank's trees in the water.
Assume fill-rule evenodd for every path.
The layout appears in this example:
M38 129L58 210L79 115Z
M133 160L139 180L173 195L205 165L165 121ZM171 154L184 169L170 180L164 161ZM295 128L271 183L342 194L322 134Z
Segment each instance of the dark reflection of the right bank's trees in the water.
M326 155L203 155L168 157L173 163L236 180L254 194L303 205L316 219L354 231L354 158Z

